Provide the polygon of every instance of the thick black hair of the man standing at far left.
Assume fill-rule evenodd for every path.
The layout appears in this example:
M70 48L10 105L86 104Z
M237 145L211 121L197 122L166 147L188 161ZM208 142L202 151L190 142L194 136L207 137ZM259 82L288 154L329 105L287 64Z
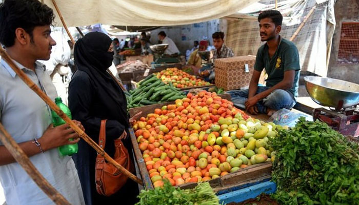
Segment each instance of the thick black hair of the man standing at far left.
M34 28L52 25L54 18L52 9L37 0L5 0L0 4L0 43L13 46L17 28L23 28L33 42Z

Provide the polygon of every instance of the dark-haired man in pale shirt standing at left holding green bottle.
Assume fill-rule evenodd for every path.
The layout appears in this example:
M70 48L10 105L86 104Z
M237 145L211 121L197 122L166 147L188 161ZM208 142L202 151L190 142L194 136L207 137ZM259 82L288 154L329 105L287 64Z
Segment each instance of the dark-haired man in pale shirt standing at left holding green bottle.
M0 4L0 43L15 64L51 99L55 87L43 64L51 47L52 9L37 0L5 0ZM71 204L85 204L74 162L59 156L57 147L79 138L68 125L53 127L51 110L10 68L0 62L0 121L29 156L37 170ZM75 121L75 120L74 120ZM75 121L80 126L80 122ZM73 141L69 141L73 138ZM0 181L8 205L53 204L9 151L0 143Z

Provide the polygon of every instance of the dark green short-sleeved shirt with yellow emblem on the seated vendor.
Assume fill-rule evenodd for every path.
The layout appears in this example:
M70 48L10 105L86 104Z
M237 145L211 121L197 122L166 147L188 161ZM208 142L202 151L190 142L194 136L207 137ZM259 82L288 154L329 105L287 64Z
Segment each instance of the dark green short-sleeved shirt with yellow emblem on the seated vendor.
M268 74L266 79L268 87L272 87L282 81L285 71L295 70L293 86L287 91L293 97L298 96L299 71L301 67L298 50L292 42L281 37L278 48L272 58L268 54L268 45L262 45L258 49L255 58L254 70L262 72L263 68L266 69Z

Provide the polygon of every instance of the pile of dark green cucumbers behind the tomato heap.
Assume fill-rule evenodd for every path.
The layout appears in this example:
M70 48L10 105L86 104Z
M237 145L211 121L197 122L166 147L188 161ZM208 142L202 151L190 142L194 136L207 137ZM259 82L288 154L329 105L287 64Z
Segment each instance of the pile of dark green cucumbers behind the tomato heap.
M130 91L130 97L127 96L128 108L174 101L185 97L178 88L174 88L172 84L166 85L153 74L147 76L138 85L137 89Z

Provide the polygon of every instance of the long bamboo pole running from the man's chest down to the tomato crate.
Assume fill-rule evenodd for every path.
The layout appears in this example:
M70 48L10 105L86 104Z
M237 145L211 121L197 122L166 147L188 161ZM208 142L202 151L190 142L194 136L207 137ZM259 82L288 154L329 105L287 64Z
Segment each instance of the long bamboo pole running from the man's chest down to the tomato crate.
M79 137L83 138L96 152L102 155L108 162L110 162L114 167L119 169L122 173L128 176L130 179L135 182L143 185L141 179L133 175L131 172L126 170L124 167L119 165L114 159L112 159L101 147L99 147L96 142L94 142L84 131L82 131L76 124L61 110L56 104L41 90L39 89L33 81L22 71L20 70L6 53L3 48L0 48L0 55L3 59L9 64L9 66L14 70L14 72L24 81L24 83L31 88L39 97L41 97L50 108L58 114L64 121L78 134Z

